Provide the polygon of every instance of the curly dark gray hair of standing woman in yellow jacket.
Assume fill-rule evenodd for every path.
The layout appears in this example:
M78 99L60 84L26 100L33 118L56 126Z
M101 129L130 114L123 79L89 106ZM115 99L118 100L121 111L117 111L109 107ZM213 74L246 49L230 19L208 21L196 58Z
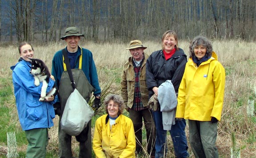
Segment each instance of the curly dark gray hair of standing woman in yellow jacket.
M190 43L189 43L189 57L194 57L194 49L197 46L206 47L206 56L212 55L212 43L204 36L196 36Z

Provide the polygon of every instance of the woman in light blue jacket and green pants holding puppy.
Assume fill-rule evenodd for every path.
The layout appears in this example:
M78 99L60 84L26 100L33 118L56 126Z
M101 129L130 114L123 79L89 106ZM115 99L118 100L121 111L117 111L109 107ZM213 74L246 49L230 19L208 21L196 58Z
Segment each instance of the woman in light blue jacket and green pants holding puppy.
M20 125L28 140L26 158L45 158L48 128L53 126L52 119L55 118L52 104L57 97L51 96L44 102L39 101L42 83L35 86L34 77L29 73L30 59L34 56L33 47L27 42L22 42L19 53L20 60L11 69ZM47 92L53 85L54 81L50 79Z

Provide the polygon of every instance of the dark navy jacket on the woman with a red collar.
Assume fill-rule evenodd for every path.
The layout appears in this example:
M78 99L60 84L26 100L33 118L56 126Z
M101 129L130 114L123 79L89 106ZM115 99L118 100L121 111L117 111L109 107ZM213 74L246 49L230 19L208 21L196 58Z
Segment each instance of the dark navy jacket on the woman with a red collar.
M163 50L154 51L146 63L149 98L154 94L153 87L159 87L166 80L171 80L175 91L178 92L186 63L187 55L183 49L176 50L168 60L165 60Z

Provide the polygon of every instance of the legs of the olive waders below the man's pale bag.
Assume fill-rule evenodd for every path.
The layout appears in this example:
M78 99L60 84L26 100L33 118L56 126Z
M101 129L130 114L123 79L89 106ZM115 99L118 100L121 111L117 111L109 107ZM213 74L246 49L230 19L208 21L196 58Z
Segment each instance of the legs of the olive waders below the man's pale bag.
M61 120L61 117L60 117ZM79 158L92 158L92 136L91 136L91 121L87 127L76 136L79 144ZM66 134L60 128L59 121L59 158L72 158L71 150L71 135Z

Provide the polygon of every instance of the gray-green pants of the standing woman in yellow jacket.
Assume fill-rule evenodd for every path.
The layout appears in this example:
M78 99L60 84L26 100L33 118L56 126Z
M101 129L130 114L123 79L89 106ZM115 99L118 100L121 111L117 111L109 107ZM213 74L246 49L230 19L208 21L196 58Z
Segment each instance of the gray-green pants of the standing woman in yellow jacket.
M195 158L218 158L217 122L188 120L189 142Z

